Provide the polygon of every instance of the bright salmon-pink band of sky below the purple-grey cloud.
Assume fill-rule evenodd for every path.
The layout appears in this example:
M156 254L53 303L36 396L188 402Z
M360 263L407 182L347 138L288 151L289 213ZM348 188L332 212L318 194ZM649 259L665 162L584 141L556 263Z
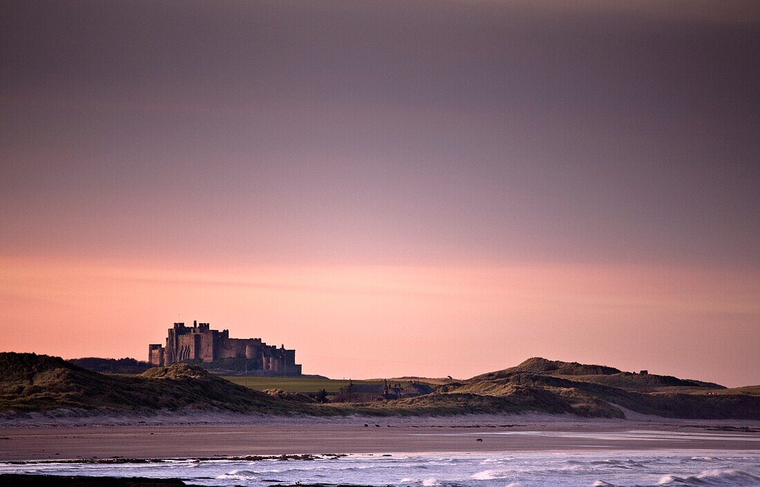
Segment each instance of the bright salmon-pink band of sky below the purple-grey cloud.
M466 378L530 356L756 381L760 281L685 267L294 266L209 270L8 259L8 349L147 356L173 321L297 350L306 373ZM720 322L720 324L716 324ZM92 326L97 323L97 327Z

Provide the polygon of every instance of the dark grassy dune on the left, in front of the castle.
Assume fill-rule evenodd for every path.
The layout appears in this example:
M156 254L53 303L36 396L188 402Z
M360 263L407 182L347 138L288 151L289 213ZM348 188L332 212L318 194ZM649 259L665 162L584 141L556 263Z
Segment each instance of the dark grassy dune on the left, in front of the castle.
M0 410L198 410L290 413L302 408L180 364L103 375L33 353L0 353Z

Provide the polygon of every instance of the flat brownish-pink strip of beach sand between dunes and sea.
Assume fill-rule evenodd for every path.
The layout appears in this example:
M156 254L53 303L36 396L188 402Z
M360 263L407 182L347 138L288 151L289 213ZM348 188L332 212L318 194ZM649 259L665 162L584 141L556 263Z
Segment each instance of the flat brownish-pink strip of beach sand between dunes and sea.
M749 432L736 431L747 425L751 427ZM663 432L670 433L663 435ZM483 441L477 441L478 438ZM563 421L550 417L543 420L490 416L0 426L0 461L600 448L760 450L760 425L730 421Z

